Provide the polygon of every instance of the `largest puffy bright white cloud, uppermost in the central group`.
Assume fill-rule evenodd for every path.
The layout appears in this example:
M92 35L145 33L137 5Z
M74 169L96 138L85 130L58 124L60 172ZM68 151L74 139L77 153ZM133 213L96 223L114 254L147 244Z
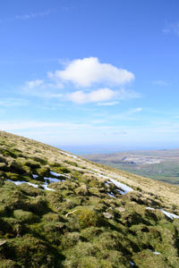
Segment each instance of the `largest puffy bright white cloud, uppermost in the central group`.
M94 83L122 85L134 79L131 71L109 63L99 63L97 57L77 59L68 63L64 71L51 73L51 78L72 82L76 87L90 87Z

